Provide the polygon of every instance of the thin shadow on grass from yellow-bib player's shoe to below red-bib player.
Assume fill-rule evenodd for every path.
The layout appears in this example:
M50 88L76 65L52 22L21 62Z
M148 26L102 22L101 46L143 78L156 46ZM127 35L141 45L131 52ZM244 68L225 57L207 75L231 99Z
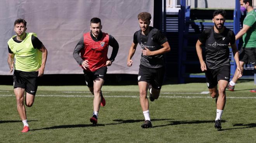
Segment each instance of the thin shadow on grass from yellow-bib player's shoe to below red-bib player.
M47 128L40 128L40 129L33 129L30 131L38 131L38 130L51 130L51 129L65 129L65 128L85 128L91 127L92 124L67 124L67 125L60 125L60 126L52 126ZM96 126L105 126L104 124L97 124Z

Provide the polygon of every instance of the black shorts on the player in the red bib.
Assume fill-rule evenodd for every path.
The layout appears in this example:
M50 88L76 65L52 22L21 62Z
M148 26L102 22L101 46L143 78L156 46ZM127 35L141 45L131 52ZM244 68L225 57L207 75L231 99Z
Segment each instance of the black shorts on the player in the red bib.
M100 67L96 71L88 72L83 70L85 76L85 82L88 87L93 87L93 81L97 78L105 80L107 74L107 67Z

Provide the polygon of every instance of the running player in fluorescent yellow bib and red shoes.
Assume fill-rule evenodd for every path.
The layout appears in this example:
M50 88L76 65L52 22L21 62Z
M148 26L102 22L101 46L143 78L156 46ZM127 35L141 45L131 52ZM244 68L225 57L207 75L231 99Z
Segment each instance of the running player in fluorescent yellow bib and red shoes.
M35 33L26 33L26 24L24 19L17 19L14 22L14 31L17 35L12 36L7 42L10 73L14 68L13 80L17 110L24 125L22 133L29 131L24 98L26 106L31 107L36 95L37 80L38 77L43 76L47 59L47 49ZM26 94L24 94L25 91Z

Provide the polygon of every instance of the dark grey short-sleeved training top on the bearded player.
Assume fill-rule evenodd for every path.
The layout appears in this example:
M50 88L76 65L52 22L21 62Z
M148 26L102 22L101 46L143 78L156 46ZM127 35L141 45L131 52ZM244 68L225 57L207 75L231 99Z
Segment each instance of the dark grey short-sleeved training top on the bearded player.
M235 34L224 28L222 33L214 32L213 27L205 29L199 37L199 41L205 43L206 66L209 69L230 66L228 44L235 43Z

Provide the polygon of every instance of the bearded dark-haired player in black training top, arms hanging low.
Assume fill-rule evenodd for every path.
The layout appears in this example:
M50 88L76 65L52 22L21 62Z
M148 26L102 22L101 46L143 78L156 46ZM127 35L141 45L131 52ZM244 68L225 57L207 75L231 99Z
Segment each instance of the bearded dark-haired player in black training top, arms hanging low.
M212 98L216 98L216 119L214 127L221 129L221 115L226 103L225 89L230 80L229 48L231 44L237 70L242 76L239 65L239 54L235 44L235 34L232 30L224 27L225 10L215 10L213 12L214 26L205 29L196 43L197 56L201 64L201 70L205 72L206 83ZM202 57L202 44L205 44L206 61Z

